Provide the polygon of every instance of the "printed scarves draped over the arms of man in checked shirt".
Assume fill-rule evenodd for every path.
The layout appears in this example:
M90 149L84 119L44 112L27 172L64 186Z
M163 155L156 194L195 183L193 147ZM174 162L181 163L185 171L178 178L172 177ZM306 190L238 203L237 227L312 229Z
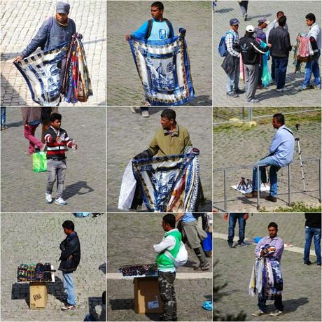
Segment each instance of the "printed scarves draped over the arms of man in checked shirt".
M264 248L269 248L269 245L262 247L262 249ZM269 253L267 256L255 259L248 293L250 295L262 294L265 300L274 300L275 295L282 293L283 277L279 261L269 256Z

